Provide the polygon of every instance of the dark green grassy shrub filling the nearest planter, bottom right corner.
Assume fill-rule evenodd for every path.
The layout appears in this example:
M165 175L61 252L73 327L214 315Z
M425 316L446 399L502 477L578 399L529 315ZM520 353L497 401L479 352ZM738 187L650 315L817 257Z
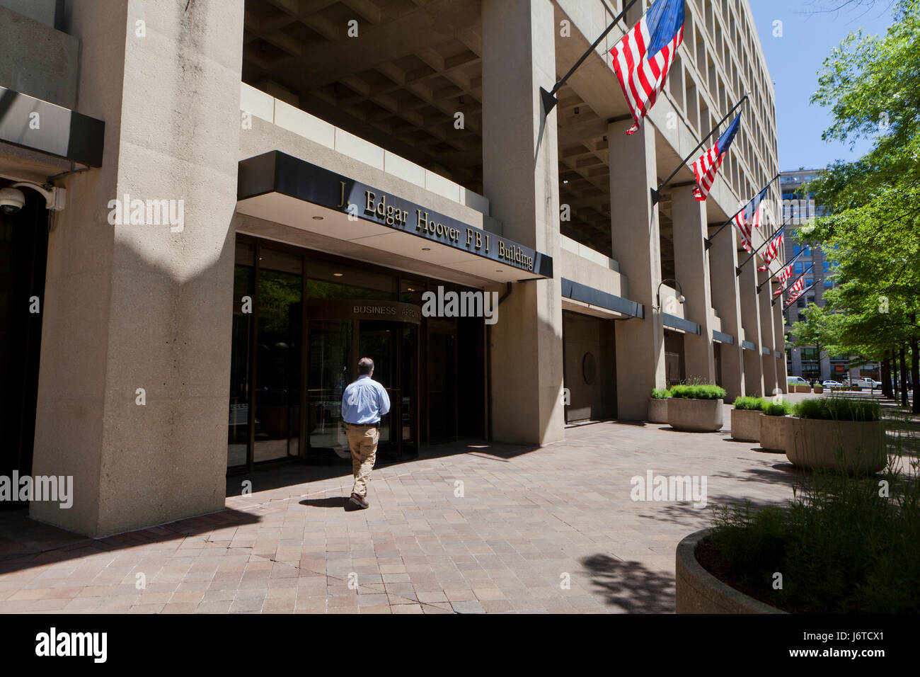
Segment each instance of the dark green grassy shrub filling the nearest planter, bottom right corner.
M915 478L888 479L879 496L877 477L814 473L786 506L720 508L719 578L793 613L920 612L920 492Z

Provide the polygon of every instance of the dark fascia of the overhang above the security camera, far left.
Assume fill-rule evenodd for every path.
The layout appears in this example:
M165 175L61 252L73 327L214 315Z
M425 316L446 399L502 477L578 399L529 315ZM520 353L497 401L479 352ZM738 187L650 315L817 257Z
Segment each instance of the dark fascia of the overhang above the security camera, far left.
M0 87L0 142L101 167L105 132L101 120Z

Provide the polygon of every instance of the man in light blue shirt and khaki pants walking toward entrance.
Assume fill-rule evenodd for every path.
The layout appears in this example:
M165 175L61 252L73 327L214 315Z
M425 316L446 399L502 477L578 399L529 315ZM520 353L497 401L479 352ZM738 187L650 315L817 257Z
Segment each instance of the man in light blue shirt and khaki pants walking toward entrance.
M382 385L371 377L374 360L362 357L358 361L358 380L353 381L342 394L342 420L351 448L351 473L354 487L351 503L367 508L367 483L377 459L377 442L380 440L380 417L390 411L390 398Z

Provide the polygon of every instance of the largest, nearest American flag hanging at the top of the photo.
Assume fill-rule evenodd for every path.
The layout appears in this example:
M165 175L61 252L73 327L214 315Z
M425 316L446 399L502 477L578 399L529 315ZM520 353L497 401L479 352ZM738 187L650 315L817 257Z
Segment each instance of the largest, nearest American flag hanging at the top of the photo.
M638 24L610 50L616 77L635 121L627 134L638 132L643 118L655 105L683 41L684 0L655 0Z

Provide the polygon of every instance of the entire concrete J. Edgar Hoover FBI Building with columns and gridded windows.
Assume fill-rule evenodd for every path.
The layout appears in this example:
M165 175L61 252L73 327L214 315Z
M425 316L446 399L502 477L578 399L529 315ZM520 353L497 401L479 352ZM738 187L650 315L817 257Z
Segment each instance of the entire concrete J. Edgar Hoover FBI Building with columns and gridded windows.
M608 51L649 5L547 114L622 2L0 0L0 188L42 189L0 229L3 470L76 494L30 515L126 531L223 508L227 473L334 462L364 355L393 459L642 420L680 380L784 390L756 289L781 262L736 274L734 228L704 245L778 171L750 8L688 0L627 135ZM708 200L684 167L653 204L744 92ZM450 291L498 321L421 311Z

